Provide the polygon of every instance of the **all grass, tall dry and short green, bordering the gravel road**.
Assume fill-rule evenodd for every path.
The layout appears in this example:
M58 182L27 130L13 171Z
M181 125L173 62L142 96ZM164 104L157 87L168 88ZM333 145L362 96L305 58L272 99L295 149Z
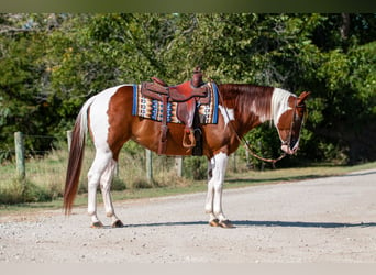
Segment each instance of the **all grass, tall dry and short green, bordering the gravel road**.
M141 154L142 155L142 154ZM75 206L87 205L86 173L89 168L93 152L87 150L79 194ZM0 199L8 196L10 204L0 204L0 213L33 212L46 209L60 209L63 206L62 193L65 179L67 152L56 151L42 160L29 161L26 164L27 180L21 183L14 178L14 165L0 167ZM207 180L192 180L177 178L172 172L172 158L158 157L154 160L155 183L146 183L143 166L143 157L139 155L123 154L121 156L119 176L113 183L112 197L114 201L172 196L178 194L199 193L207 189ZM311 165L299 168L268 169L264 172L245 170L237 165L240 172L231 170L229 165L224 188L240 188L251 185L277 184L283 182L295 182L310 178L343 175L346 173L376 168L376 162L356 166ZM126 167L126 168L125 168ZM126 183L123 179L126 179ZM133 182L132 182L133 180ZM168 183L168 184L167 184ZM29 186L25 189L24 186ZM15 196L12 201L12 196ZM31 199L16 202L16 196L29 196ZM44 196L47 201L33 200L33 196ZM98 194L98 201L101 196Z

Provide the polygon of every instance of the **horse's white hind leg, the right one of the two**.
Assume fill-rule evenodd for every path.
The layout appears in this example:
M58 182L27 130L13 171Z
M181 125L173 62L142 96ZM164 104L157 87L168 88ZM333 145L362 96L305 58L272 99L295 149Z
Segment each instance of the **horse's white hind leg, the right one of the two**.
M111 218L112 228L122 228L123 223L121 222L121 220L119 220L119 218L114 213L114 208L112 205L112 197L110 193L111 184L112 184L112 179L113 179L113 175L115 170L117 170L117 162L113 158L111 158L100 178L100 188L102 191L106 215L107 217Z

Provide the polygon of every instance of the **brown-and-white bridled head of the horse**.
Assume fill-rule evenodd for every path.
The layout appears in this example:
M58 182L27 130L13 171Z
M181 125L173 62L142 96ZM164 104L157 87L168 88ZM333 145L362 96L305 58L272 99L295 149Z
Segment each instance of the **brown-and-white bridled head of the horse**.
M275 121L281 141L281 150L287 154L295 154L299 147L300 132L307 117L305 100L310 91L303 91L299 97L289 96L287 108L279 111Z

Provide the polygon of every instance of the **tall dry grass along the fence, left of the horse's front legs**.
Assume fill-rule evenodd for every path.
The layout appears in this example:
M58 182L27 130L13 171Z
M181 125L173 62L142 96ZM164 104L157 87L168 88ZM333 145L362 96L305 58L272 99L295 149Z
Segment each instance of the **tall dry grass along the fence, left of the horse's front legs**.
M187 186L190 180L174 175L174 158L155 157L153 160L154 180L151 183L145 175L145 151L131 144L131 150L120 154L118 176L112 183L112 190L151 189L165 186ZM87 173L95 157L92 145L85 151L82 170L78 193L87 193ZM20 179L15 173L15 164L0 166L0 210L14 205L30 202L58 201L63 196L68 152L53 151L43 158L26 161L26 178ZM173 179L173 180L172 180Z

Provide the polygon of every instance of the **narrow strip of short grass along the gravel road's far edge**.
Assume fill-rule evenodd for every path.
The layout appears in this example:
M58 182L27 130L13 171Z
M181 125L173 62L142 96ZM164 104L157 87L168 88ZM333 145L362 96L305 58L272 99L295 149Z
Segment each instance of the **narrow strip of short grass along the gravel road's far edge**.
M376 168L376 163L367 163L356 166L332 166L332 165L313 165L310 167L269 169L264 172L242 172L228 173L224 188L241 188L252 185L278 184L285 182L297 182L303 179L312 179L328 176L343 175L351 172ZM180 184L161 185L153 188L129 188L123 190L113 190L112 197L114 201L155 198L164 196L174 196L179 194L191 194L206 191L207 180L187 180L180 179ZM101 195L98 191L98 202L101 204ZM75 200L76 207L87 205L87 194L79 194ZM33 212L46 209L60 209L63 206L62 198L55 198L47 202L23 202L23 204L2 204L0 205L0 213ZM63 211L62 211L63 213Z

